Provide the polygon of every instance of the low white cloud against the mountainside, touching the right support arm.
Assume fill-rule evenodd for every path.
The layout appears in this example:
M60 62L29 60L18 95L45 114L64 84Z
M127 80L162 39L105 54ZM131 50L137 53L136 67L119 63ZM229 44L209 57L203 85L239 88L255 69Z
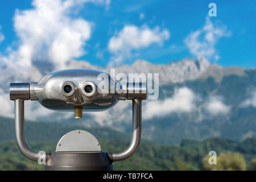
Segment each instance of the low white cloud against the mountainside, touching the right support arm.
M183 87L175 91L174 96L166 100L147 101L143 108L143 119L165 117L173 112L189 113L196 108L197 96L189 88Z

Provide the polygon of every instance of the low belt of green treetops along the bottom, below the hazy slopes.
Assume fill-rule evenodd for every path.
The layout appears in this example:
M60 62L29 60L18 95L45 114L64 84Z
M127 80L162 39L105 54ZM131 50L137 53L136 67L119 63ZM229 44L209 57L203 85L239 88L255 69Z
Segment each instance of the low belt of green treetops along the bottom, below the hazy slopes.
M227 139L208 139L201 142L195 140L183 140L180 146L155 146L150 143L141 143L136 154L122 162L114 163L114 170L202 170L203 159L209 151L216 151L217 156L231 155L232 161L228 169L255 169L253 159L256 159L256 139L247 139L243 142L235 142ZM121 140L102 140L101 147L104 151L121 151L129 143ZM55 150L56 143L38 142L28 144L34 151ZM233 152L233 153L229 153ZM227 153L228 152L228 153ZM239 155L246 163L245 168L236 163ZM234 154L234 158L232 155ZM239 160L238 160L239 161ZM218 164L218 157L217 157ZM15 142L9 141L0 144L0 169L1 170L42 170L36 162L26 159L16 147Z

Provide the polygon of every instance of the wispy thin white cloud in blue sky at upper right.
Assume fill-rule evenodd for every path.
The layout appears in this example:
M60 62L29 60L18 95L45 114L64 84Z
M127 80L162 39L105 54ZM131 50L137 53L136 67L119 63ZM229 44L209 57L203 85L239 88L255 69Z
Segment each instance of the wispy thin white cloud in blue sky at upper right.
M184 42L192 55L217 60L219 56L215 49L216 43L220 38L230 35L231 33L226 31L226 27L213 24L207 17L204 27L189 34Z

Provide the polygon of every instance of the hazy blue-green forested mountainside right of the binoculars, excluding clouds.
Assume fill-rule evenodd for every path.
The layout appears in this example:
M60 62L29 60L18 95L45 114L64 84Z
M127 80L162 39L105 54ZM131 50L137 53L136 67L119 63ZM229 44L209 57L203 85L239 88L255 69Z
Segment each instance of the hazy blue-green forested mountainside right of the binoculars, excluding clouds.
M145 137L162 144L179 144L181 139L202 140L219 137L242 141L245 138L255 138L256 108L252 105L241 106L246 99L253 100L251 94L255 92L255 85L256 70L249 69L245 71L245 76L228 75L220 82L213 77L207 77L160 86L160 101L172 98L175 89L186 87L196 93L202 101L207 101L210 96L220 96L223 103L230 106L230 112L213 117L204 110L204 104L198 104L191 113L175 112L164 117L148 119L143 125Z

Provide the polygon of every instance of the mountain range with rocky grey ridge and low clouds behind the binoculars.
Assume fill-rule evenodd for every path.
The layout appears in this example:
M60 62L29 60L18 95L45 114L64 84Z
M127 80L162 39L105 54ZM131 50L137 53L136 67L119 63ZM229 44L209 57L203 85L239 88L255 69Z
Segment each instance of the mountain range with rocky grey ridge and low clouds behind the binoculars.
M110 72L110 68L72 60L65 69L86 68ZM15 73L0 80L38 81L53 68L33 68L35 75L18 77ZM177 144L181 139L203 140L212 137L244 140L256 137L256 69L221 67L203 57L185 58L156 65L144 60L115 67L115 73L159 73L158 100L143 101L143 138L162 144ZM25 80L26 79L26 80ZM1 98L9 100L8 89ZM7 97L7 98L6 98ZM5 105L7 108L8 106ZM85 119L73 119L73 113L43 109L37 102L26 103L26 118L40 122L58 122L84 127L111 127L131 132L131 101L100 113L84 113ZM12 111L5 111L11 113ZM2 112L3 113L3 112ZM1 114L2 114L1 113ZM13 117L13 115L5 115Z

